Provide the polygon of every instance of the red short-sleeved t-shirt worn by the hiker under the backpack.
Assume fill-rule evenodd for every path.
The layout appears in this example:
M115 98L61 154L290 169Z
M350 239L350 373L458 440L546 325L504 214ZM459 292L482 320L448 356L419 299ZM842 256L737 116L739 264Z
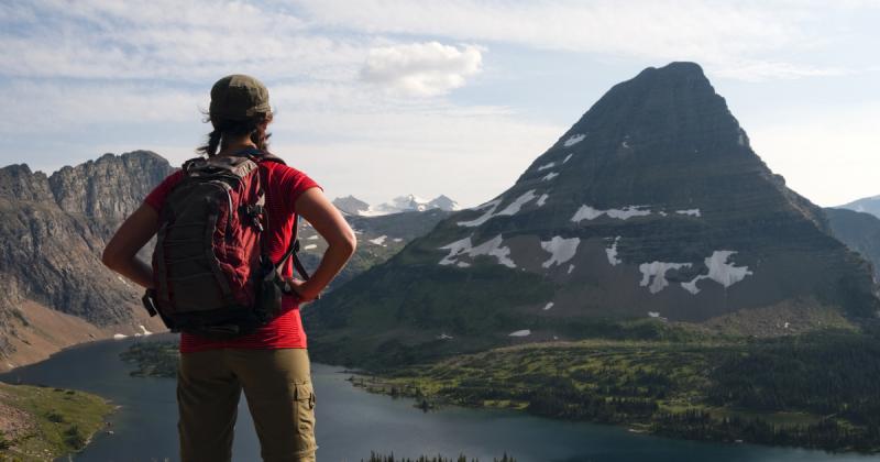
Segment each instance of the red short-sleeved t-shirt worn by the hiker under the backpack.
M290 244L293 227L296 223L294 205L299 196L310 188L319 188L317 183L305 173L290 168L276 162L264 162L260 169L262 184L266 191L266 207L268 211L268 233L264 244L272 261L277 262ZM183 172L170 174L150 195L144 202L153 207L156 212L162 209L165 197L183 178ZM293 276L293 258L283 268L284 276ZM273 319L268 324L260 328L254 333L240 338L217 341L208 340L191 333L180 334L180 352L190 353L222 348L265 349L306 348L306 332L302 330L302 320L299 318L299 305L295 297L284 296L283 308L285 314Z

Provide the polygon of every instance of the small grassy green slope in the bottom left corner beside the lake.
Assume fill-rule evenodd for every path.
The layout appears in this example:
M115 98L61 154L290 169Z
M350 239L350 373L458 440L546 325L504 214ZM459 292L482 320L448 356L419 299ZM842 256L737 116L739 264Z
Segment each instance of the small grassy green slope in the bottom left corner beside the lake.
M0 383L0 460L36 461L82 450L113 407L82 392Z

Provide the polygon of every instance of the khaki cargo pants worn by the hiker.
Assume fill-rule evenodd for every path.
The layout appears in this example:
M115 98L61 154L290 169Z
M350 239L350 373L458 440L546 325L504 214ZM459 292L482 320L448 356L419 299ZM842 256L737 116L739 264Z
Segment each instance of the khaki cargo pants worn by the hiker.
M177 372L182 461L232 459L242 389L264 461L315 461L315 392L305 349L182 354Z

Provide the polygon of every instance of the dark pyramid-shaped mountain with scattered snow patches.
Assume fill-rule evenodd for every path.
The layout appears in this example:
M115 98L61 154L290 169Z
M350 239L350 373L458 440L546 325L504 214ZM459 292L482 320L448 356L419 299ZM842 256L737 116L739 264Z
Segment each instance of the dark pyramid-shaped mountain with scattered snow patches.
M673 63L616 85L513 187L307 322L330 360L408 361L578 338L596 318L700 322L782 306L870 317L873 290L869 265L761 162L700 66Z

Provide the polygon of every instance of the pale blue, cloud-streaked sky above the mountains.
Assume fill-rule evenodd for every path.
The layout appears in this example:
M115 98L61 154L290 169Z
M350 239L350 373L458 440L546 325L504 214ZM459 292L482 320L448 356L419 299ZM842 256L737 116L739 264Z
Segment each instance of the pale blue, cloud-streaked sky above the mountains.
M514 184L613 85L698 63L789 187L880 195L880 0L0 0L0 166L151 150L179 165L211 85L266 84L272 150L328 197Z

